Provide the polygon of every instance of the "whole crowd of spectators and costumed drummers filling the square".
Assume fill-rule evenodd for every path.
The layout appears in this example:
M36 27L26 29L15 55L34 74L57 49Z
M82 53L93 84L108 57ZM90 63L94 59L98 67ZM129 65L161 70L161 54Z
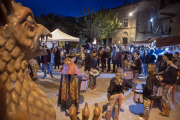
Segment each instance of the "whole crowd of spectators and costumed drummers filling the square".
M49 68L48 73L53 78L53 64L54 69L59 69L60 65L63 66L58 97L61 109L69 109L72 104L76 105L78 109L82 75L74 61L77 56L80 56L79 58L82 60L81 66L84 67L88 74L87 76L93 90L96 90L96 77L90 75L90 71L95 69L100 72L112 71L116 73L116 76L111 79L107 90L110 102L106 113L107 120L111 118L113 107L115 107L114 120L118 120L119 104L121 104L124 87L132 87L131 93L134 93L138 84L138 76L141 73L147 76L147 79L146 84L143 85L144 114L143 118L140 117L139 119L149 119L151 100L155 99L159 86L163 86L161 98L162 112L160 114L162 116L169 116L170 96L172 88L178 79L178 71L180 70L178 52L175 52L174 55L166 52L161 57L156 55L153 49L144 49L143 47L137 47L131 51L130 46L89 47L88 44L84 46L79 54L75 53L75 51L67 54L65 47L62 49L58 47L52 50L47 49L47 53L46 56L41 56L44 78L46 78L47 68ZM111 63L113 64L112 70ZM121 70L133 72L132 84L123 79L124 74Z

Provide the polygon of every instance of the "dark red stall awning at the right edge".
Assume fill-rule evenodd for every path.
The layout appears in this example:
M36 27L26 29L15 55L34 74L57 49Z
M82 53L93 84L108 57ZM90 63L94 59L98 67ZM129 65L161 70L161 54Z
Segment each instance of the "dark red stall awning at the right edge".
M161 37L156 40L156 47L170 46L180 44L180 36Z

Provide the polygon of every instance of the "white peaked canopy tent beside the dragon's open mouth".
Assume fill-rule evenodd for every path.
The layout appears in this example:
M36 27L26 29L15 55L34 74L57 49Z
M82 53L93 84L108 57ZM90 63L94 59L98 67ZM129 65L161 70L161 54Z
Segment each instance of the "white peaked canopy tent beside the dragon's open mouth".
M72 37L58 28L51 32L52 38L48 37L48 41L58 42L58 41L71 41L71 42L79 42L79 38Z

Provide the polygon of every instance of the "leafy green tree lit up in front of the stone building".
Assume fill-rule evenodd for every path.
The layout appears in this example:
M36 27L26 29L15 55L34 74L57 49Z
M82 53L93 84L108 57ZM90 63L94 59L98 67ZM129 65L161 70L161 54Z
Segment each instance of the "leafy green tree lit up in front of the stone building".
M104 10L102 7L99 11L94 12L83 10L81 17L76 17L77 28L80 34L90 39L102 40L108 35L112 35L122 23L118 20L118 14L113 14L111 10Z

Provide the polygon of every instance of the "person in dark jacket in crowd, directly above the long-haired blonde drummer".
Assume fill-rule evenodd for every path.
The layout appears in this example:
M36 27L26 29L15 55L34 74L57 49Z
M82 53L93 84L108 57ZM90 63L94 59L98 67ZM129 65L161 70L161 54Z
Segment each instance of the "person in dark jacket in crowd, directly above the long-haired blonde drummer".
M119 68L119 62L121 60L121 54L118 51L119 50L116 49L116 52L114 52L114 54L112 56L113 72L115 72L115 65L117 65L117 68Z

